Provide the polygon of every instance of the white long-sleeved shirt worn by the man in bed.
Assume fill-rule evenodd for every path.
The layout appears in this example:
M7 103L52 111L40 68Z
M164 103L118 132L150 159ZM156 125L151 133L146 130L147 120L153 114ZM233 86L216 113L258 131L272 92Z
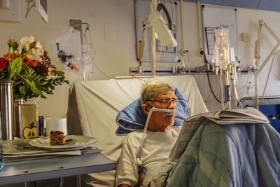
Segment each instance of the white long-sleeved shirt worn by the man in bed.
M147 130L143 148L139 156L147 173L153 169L158 171L158 168L168 156L172 147L175 144L181 127L170 127L167 132L151 132ZM120 162L118 164L118 172L116 186L121 183L135 186L138 183L138 165L137 152L143 137L143 131L131 132L127 134L123 142L122 153L120 154Z

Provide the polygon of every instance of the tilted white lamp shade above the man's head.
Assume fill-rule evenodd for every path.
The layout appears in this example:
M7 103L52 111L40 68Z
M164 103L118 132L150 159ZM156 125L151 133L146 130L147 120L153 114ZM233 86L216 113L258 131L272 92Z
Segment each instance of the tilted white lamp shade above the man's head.
M162 45L168 47L177 46L176 39L174 39L171 30L168 29L165 20L162 19L162 16L158 11L152 11L152 13L148 15L148 20L153 25L155 33L158 35L158 40Z

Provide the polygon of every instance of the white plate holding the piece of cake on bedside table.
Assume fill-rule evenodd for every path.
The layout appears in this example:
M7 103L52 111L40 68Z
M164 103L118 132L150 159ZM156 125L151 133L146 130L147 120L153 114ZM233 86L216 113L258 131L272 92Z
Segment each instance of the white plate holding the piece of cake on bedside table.
M50 145L49 137L32 139L29 141L31 146L36 146L38 148L45 148L51 150L76 150L88 146L90 144L97 143L97 139L94 137L84 137L78 135L66 135L65 140L73 139L72 141L67 142L65 145Z

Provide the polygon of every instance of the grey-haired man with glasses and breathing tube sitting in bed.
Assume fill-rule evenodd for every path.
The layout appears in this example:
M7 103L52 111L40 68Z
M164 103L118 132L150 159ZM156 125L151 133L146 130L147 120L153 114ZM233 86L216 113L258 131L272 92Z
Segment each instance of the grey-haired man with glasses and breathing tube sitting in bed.
M149 81L141 90L141 108L146 115L153 107L175 111L177 101L174 88L167 83ZM142 183L145 186L145 183L148 184L151 181L151 177L146 179L148 175L157 174L162 162L168 160L169 152L179 135L180 127L172 127L174 118L175 112L153 111L139 155L144 169L137 165L137 152L143 131L131 132L127 135L118 164L116 186L137 186ZM139 177L143 171L146 173L144 181Z

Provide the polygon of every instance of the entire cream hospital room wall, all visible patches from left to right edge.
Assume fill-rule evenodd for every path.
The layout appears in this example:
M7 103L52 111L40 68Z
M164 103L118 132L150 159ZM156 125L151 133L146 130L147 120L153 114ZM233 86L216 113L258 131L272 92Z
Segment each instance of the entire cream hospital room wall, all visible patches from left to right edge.
M61 62L55 60L50 41L69 27L70 19L77 19L90 24L92 45L96 50L96 55L94 55L96 65L92 69L92 80L128 76L129 67L137 67L133 0L49 0L48 2L48 24L43 22L34 8L25 18L27 4L23 0L20 1L20 23L0 22L1 55L7 52L6 41L8 37L19 41L22 36L33 35L43 44L43 48L48 50L52 63L55 64L57 69L64 70ZM251 34L250 42L239 41L239 57L244 68L253 67L253 46L258 36L258 20L260 18L263 18L276 34L280 34L280 29L277 25L280 13L237 8L238 33L247 32ZM190 51L191 67L200 67L204 62L203 58L198 55L200 41L197 25L197 4L183 2L183 20L184 48ZM275 42L267 35L266 33L263 46L272 48ZM267 53L267 51L265 52ZM276 57L276 62L277 60L278 57ZM186 60L186 64L187 62ZM170 63L163 63L158 66L170 66ZM274 65L274 71L274 74L278 74L278 64ZM83 80L82 76L72 71L66 71L66 78L70 81L70 85L73 82ZM202 92L204 99L207 101L213 99L208 85L206 85L207 77L197 75L195 78L199 88L204 89ZM218 81L215 81L217 76L211 76L211 79L213 79L216 92L219 92L218 84L216 83ZM251 79L253 81L253 77ZM242 92L244 92L243 85L246 80L247 75L239 78L241 82L239 90ZM268 95L277 95L279 90L275 90L275 88L279 87L278 84L279 78L276 78L276 76L271 78L271 82L268 85ZM42 113L45 118L65 117L70 85L59 86L55 89L54 95L47 95L48 99L38 99L39 113ZM34 102L35 99L31 99L28 103Z

